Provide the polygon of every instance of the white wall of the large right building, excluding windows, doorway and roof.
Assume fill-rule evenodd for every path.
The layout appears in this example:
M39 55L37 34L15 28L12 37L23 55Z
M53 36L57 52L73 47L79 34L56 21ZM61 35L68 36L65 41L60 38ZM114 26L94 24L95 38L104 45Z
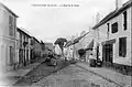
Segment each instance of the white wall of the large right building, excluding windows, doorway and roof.
M110 23L110 33L109 33L109 39L107 36L107 23L102 24L101 26L99 26L99 43L101 44L101 42L105 41L109 41L112 39L116 39L116 43L113 44L113 63L117 64L124 64L124 65L131 65L131 9L128 9L128 29L124 31L123 30L123 14L121 13L120 15L111 19L110 21L108 21L107 23ZM119 23L119 28L118 28L118 32L117 33L111 33L111 24L118 22ZM127 36L127 56L125 57L121 57L119 56L119 37L123 37ZM98 39L96 37L96 40L98 41ZM102 58L102 45L100 45L100 58Z

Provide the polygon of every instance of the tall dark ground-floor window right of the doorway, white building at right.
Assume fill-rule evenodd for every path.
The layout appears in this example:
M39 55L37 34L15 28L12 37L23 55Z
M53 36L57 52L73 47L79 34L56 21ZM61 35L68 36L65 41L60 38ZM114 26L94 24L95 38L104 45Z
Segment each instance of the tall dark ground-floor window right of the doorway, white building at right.
M119 56L125 57L127 55L127 37L119 39Z

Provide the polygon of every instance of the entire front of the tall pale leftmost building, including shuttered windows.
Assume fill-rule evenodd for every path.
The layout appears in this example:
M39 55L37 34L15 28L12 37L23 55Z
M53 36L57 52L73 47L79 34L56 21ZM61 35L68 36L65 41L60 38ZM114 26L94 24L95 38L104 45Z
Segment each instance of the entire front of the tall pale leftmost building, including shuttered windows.
M16 14L0 3L0 64L4 69L13 69L16 62Z

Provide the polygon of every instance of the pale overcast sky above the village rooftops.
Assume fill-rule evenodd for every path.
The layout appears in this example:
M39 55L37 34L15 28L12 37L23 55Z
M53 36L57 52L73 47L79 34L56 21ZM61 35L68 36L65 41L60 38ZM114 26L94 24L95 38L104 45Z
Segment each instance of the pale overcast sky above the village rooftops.
M0 0L18 18L18 26L29 31L44 42L55 42L57 37L70 39L82 31L89 31L100 20L116 9L116 0ZM128 0L122 0L122 3ZM34 6L37 4L37 6ZM46 4L46 7L45 7ZM47 7L56 4L57 7ZM69 4L76 7L61 7Z

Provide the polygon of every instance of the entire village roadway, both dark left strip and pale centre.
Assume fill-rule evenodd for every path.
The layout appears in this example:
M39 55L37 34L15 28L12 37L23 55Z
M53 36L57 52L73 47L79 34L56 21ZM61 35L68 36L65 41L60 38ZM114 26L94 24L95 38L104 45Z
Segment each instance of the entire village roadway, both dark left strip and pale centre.
M42 63L13 86L31 87L124 87L103 76L85 69L84 63L61 62L56 67ZM91 68L91 67L89 67ZM95 67L100 69L100 67ZM108 72L109 73L109 72ZM112 76L112 75L111 75Z

